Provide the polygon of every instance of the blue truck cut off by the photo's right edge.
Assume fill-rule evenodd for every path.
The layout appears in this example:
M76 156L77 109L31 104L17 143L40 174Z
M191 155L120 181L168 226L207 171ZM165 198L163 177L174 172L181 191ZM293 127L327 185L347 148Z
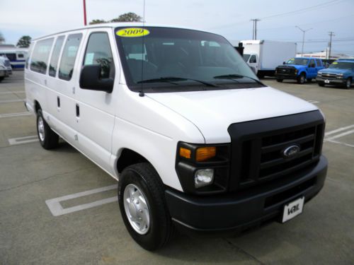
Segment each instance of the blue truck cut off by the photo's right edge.
M316 81L319 86L332 85L350 88L354 79L354 60L341 59L333 61L327 69L317 73Z

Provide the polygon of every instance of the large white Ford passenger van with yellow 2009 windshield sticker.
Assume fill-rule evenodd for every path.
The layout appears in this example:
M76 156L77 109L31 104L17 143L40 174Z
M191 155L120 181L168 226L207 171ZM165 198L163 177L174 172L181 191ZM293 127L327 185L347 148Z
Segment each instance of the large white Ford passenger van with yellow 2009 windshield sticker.
M26 106L118 180L122 219L154 250L173 228L285 222L323 187L324 116L265 86L219 35L113 23L34 40Z

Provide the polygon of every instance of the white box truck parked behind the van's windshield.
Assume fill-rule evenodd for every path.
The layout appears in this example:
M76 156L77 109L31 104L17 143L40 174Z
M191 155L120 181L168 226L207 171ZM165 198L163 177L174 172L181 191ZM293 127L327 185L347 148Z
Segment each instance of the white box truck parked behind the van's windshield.
M241 40L244 60L258 77L273 76L275 68L289 58L295 57L295 42L273 40Z

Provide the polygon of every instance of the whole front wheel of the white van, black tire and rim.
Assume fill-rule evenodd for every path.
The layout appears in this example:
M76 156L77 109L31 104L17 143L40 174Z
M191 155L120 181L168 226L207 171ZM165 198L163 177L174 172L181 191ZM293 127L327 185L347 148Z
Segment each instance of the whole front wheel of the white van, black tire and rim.
M118 183L118 202L125 227L137 244L149 251L166 245L173 225L164 184L152 165L139 163L123 170Z

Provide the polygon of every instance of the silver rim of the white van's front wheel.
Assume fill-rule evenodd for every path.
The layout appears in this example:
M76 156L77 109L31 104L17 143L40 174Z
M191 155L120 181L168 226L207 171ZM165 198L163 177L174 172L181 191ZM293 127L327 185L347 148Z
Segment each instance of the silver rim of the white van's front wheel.
M150 212L147 199L135 184L128 184L123 194L125 215L132 228L144 235L150 228Z

